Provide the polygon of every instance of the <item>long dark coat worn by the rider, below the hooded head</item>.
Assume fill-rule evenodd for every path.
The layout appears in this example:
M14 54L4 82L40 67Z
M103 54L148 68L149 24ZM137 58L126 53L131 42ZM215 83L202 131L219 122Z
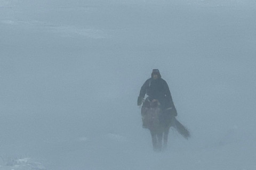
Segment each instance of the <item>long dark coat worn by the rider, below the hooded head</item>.
M161 77L156 80L153 78L146 80L140 89L139 97L144 98L145 94L148 95L149 100L157 99L163 110L172 107L172 112L177 115L168 84Z

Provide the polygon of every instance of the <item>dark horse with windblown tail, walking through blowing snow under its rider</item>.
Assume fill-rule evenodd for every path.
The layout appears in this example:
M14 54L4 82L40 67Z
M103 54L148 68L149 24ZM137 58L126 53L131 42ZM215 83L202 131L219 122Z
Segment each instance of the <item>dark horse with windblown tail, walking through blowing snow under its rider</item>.
M163 112L158 100L143 102L141 107L142 127L149 129L154 151L167 148L168 134L171 127L176 129L184 138L190 137L190 132L174 116Z

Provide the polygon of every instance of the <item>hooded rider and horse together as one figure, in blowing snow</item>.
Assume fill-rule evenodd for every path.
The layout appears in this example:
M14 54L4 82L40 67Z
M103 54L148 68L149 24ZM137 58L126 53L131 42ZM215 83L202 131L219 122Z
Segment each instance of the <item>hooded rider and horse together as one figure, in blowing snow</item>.
M144 100L146 94L148 97ZM137 103L138 106L143 103L141 107L142 128L150 131L154 151L167 148L171 127L184 138L190 137L190 132L175 117L177 110L173 104L171 92L158 69L153 69L151 78L142 85Z

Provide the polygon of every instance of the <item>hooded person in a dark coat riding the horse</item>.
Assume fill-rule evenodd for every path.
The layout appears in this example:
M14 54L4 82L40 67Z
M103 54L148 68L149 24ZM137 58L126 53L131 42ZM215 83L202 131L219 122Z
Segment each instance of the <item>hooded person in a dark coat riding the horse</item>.
M147 99L152 101L158 100L160 107L166 115L177 116L177 110L173 104L171 92L158 69L153 69L151 78L146 80L140 89L140 95L138 97L138 106L140 106L144 100L145 94L148 95Z

